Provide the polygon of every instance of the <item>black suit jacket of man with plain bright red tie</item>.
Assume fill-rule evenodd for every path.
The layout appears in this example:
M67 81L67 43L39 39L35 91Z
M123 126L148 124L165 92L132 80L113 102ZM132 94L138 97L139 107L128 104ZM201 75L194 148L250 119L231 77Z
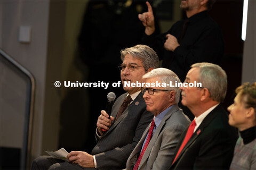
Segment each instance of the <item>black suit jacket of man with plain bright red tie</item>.
M236 129L228 124L226 111L218 105L204 118L170 169L229 169L236 139Z

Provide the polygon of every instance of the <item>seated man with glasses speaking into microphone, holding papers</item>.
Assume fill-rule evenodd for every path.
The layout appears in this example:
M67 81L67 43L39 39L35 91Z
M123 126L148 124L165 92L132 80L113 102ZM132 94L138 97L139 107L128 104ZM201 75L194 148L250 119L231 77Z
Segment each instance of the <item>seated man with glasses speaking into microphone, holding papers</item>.
M122 50L121 59L123 63L119 66L119 69L121 70L123 85L125 81L143 82L142 76L158 67L157 54L146 45L137 45ZM101 111L95 134L97 145L93 148L92 155L84 151L71 151L68 155L69 163L41 156L34 160L32 168L125 168L127 158L139 142L143 131L152 120L153 115L146 111L146 104L139 87L124 86L124 90L127 92L116 99L110 117L110 113ZM126 103L128 100L129 102ZM119 112L123 108L122 105L126 104L129 106L124 109L124 112ZM102 128L107 130L105 134L102 133Z

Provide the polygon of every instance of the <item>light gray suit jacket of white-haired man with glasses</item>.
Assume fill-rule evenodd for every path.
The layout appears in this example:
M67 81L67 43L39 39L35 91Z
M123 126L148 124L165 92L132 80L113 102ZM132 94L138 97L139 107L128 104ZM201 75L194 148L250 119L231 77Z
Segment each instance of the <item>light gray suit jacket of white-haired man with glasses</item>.
M179 142L180 135L189 125L189 118L183 114L178 105L172 108L163 117L158 125L149 145L143 155L139 169L166 169L170 167L175 148ZM145 141L150 124L142 135L138 145L132 151L127 160L126 169L133 169Z

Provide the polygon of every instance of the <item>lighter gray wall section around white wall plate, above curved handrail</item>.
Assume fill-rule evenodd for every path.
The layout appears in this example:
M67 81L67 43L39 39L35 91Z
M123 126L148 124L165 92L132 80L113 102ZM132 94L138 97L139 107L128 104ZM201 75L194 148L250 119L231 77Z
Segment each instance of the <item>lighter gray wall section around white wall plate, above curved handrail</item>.
M48 18L49 1L1 1L1 49L26 67L36 80L33 156L41 154L42 147ZM20 25L32 28L31 43L18 42Z

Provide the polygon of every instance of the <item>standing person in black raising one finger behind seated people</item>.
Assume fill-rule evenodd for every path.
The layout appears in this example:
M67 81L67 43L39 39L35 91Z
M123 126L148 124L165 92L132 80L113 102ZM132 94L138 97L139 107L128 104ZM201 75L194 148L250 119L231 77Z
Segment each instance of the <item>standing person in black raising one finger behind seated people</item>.
M162 67L172 70L180 81L185 80L190 65L200 62L220 64L224 53L222 31L209 16L208 11L215 1L183 0L180 8L186 12L187 19L172 25L169 31L158 35L155 31L155 15L149 2L148 12L139 14L139 20L145 26L142 43L153 48ZM187 107L179 103L190 120L194 116Z

